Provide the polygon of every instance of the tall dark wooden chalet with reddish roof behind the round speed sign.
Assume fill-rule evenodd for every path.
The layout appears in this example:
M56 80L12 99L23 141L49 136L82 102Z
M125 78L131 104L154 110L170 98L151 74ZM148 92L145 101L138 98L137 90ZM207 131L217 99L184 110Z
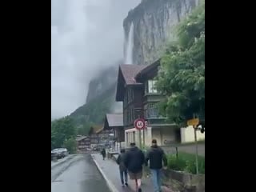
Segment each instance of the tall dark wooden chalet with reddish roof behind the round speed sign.
M158 74L160 61L151 65L120 65L118 70L118 85L116 101L123 103L123 126L126 146L130 142L137 145L145 135L145 145L150 146L152 138L157 139L158 145L190 142L194 138L193 128L179 129L174 123L166 122L166 118L158 113L157 104L163 96L154 88L154 77ZM139 138L139 131L134 128L134 120L144 118L147 127ZM198 140L204 134L198 131ZM142 142L143 143L143 142Z

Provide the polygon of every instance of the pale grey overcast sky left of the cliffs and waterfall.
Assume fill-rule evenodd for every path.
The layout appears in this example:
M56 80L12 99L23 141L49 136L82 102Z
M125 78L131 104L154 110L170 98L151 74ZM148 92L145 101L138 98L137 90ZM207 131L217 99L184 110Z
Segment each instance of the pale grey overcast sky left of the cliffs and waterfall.
M91 78L123 57L122 21L140 0L51 0L51 117L86 102Z

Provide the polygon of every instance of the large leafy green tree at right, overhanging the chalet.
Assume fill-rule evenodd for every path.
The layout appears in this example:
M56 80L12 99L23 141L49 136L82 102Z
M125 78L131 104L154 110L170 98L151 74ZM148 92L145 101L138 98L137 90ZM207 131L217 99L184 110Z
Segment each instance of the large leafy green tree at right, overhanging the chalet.
M205 3L177 27L178 41L166 50L158 71L157 88L166 95L160 110L170 121L183 124L205 114Z

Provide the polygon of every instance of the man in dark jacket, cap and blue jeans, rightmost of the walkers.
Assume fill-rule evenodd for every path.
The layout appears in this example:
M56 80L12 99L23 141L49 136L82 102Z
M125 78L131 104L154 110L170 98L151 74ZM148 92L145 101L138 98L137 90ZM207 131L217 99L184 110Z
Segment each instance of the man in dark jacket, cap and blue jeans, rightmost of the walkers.
M162 185L162 162L164 164L164 169L167 166L166 154L160 146L157 144L157 140L152 140L152 146L146 154L146 166L148 161L150 161L150 171L152 175L152 182L154 186L154 192L161 192Z

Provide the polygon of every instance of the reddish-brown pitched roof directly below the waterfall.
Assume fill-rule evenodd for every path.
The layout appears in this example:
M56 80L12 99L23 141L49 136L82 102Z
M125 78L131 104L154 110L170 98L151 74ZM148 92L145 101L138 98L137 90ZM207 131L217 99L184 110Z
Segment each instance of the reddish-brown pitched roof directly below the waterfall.
M120 69L122 71L122 75L125 79L126 85L139 84L138 82L136 82L135 76L144 68L146 68L146 65L120 65Z

